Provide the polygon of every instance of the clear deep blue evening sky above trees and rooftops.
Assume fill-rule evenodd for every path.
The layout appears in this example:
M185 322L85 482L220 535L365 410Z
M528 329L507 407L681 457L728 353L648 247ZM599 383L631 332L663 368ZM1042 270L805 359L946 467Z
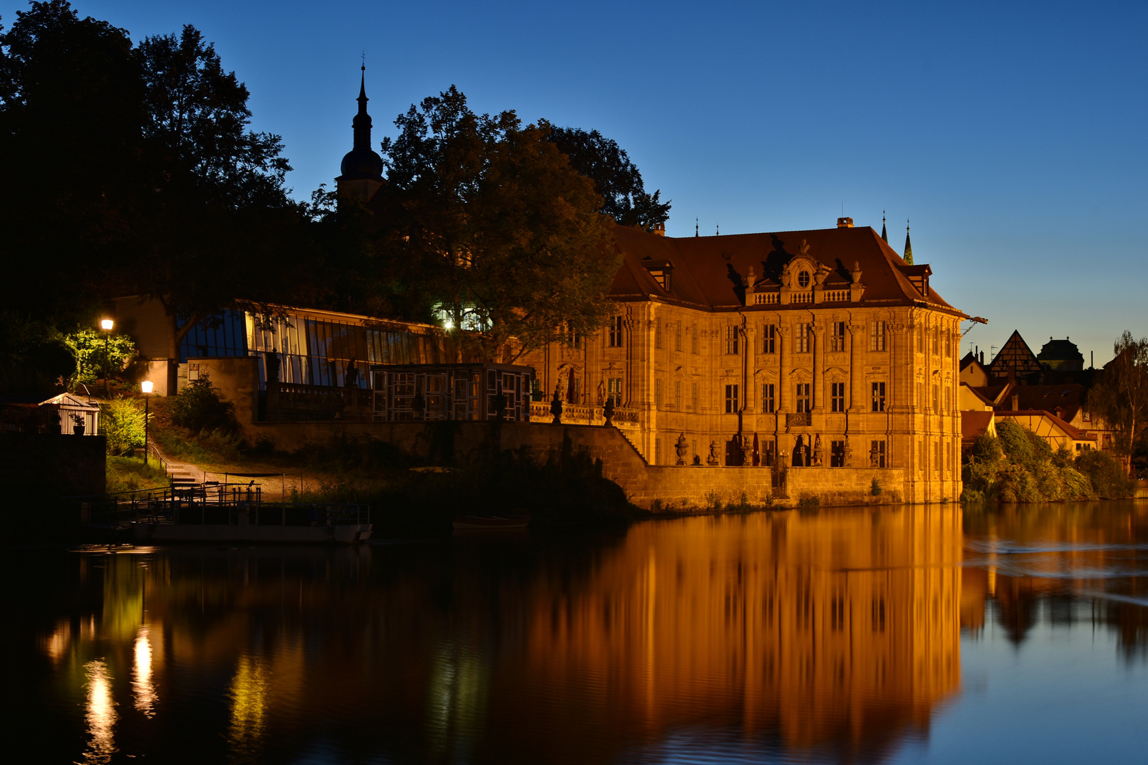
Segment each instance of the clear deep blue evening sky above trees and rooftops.
M841 212L1034 351L1148 335L1145 3L77 0L133 39L191 23L284 136L304 197L350 149L363 52L374 142L457 85L478 111L598 128L673 201L668 233L831 227ZM0 0L3 24L26 7Z

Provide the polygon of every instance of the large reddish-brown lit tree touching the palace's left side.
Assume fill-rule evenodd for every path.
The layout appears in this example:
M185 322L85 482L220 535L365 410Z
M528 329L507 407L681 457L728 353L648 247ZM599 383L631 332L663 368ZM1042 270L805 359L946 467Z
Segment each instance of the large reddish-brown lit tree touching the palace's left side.
M475 115L453 86L395 124L381 154L405 218L386 260L444 320L459 358L514 360L604 326L620 255L602 197L545 127Z

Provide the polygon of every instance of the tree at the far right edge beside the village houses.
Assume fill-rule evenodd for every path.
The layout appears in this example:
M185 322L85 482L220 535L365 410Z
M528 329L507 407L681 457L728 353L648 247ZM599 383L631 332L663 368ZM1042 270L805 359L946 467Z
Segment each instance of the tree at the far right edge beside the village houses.
M1088 406L1116 431L1116 448L1127 469L1137 435L1148 422L1148 337L1135 339L1125 329L1112 352L1115 358L1088 391Z

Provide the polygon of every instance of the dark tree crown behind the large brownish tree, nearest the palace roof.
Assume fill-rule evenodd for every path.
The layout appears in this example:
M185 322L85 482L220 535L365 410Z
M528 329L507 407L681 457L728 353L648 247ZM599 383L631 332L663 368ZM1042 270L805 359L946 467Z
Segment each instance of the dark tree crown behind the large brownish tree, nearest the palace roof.
M669 202L661 202L661 190L646 193L642 173L616 141L596 130L557 127L544 119L540 127L546 131L546 140L569 157L574 170L594 181L602 195L602 212L622 226L644 231L653 231L669 218Z

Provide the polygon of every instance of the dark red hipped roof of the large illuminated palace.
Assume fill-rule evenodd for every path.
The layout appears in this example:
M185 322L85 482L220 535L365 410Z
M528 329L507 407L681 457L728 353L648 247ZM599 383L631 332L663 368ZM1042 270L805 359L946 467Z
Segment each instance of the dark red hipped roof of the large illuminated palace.
M931 287L922 296L909 276L924 273L925 266L910 266L872 228L821 228L812 231L767 232L724 236L669 237L616 226L618 248L623 261L611 287L615 299L661 298L703 310L743 307L777 311L785 305L745 305L745 278L752 268L760 283L781 283L782 270L801 251L830 270L827 283L852 283L854 264L861 268L864 287L861 304L910 305L929 303L932 307L960 311L945 302ZM674 278L666 290L646 271L649 263L669 261ZM768 281L767 281L768 280ZM805 309L809 304L797 304ZM963 314L961 314L963 315Z

